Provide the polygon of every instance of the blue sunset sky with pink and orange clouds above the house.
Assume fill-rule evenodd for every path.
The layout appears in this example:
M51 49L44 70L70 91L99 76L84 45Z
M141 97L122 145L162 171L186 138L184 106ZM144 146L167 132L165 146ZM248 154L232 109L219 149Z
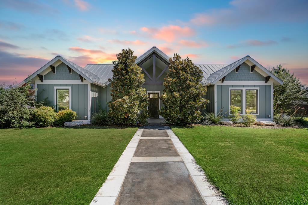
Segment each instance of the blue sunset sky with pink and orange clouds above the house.
M156 46L195 64L250 55L308 85L308 1L0 1L0 83L19 83L56 55L84 67Z

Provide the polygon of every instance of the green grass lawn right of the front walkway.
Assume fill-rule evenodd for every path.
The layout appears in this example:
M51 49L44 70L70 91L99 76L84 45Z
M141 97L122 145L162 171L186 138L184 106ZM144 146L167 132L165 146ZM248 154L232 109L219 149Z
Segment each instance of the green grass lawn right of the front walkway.
M172 128L231 204L308 204L308 129Z

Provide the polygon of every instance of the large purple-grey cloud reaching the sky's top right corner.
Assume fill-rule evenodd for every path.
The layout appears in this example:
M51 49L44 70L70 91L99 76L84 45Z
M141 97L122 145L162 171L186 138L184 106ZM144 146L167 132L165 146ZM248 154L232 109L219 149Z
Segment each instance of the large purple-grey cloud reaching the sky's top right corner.
M263 22L304 22L308 19L307 6L306 0L299 0L296 4L293 1L281 3L279 0L233 0L228 7L195 14L190 23L197 26L234 26Z

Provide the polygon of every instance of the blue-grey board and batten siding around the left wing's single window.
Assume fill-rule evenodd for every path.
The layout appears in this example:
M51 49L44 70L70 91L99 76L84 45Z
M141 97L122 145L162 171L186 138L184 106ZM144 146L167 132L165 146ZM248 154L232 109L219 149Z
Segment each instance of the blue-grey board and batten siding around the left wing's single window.
M71 87L71 109L77 113L76 120L88 120L88 85L37 84L37 100L46 99L49 101L48 106L55 106L55 86ZM84 116L87 116L87 119Z

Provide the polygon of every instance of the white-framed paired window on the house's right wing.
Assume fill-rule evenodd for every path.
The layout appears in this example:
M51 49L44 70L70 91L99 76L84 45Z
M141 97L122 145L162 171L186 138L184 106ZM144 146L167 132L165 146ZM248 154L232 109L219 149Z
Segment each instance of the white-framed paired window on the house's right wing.
M229 110L234 105L241 108L240 114L248 109L251 114L258 115L259 88L229 88Z

